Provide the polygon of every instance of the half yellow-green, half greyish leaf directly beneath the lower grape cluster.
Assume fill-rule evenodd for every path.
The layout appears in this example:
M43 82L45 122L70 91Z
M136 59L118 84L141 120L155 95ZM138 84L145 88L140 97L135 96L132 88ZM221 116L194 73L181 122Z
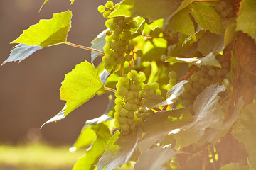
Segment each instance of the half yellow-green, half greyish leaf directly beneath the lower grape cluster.
M122 135L119 131L116 131L107 142L105 152L97 165L97 170L103 169L105 166L107 166L105 170L111 170L128 163L141 135L141 130L137 134L130 133L129 135Z

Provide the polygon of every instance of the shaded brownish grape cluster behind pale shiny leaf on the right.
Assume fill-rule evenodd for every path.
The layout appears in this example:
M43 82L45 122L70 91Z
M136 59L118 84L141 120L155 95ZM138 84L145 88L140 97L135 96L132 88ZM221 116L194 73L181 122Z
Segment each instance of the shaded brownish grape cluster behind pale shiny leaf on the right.
M203 91L206 86L210 84L220 83L222 78L228 74L228 62L225 61L222 55L217 57L222 68L213 66L201 66L191 77L188 78L188 82L184 84L184 91L179 99L183 106L187 107L188 110L193 111L193 101L196 96Z

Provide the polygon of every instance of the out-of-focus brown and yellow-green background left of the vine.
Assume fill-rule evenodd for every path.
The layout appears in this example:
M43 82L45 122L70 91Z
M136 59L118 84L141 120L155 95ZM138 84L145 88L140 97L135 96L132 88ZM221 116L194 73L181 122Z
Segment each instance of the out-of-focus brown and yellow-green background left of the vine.
M9 57L15 46L9 42L40 19L52 18L53 13L73 11L68 41L75 44L90 47L90 42L105 30L105 18L97 11L97 6L106 1L75 0L70 6L69 0L51 0L39 13L43 1L0 0L0 63ZM39 150L35 155L40 155L40 150L46 152L46 148L64 155L63 152L72 147L85 121L102 115L107 107L107 95L95 96L64 120L39 129L65 105L59 94L65 74L85 60L90 61L90 51L55 45L33 53L21 63L9 62L0 67L0 169L22 169L17 168L20 164L7 161L8 153L28 153L30 148ZM95 66L100 60L95 60ZM78 155L71 155L73 163ZM14 159L14 156L10 157ZM53 169L58 169L58 166Z

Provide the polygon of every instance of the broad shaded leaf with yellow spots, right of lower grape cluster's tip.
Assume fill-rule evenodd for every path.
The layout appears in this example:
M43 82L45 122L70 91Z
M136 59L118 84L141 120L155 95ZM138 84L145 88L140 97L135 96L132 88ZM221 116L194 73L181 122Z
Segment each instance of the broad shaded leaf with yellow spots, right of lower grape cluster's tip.
M145 120L142 132L145 133L139 147L142 151L151 147L154 142L161 142L172 130L193 122L193 117L186 108L159 111Z

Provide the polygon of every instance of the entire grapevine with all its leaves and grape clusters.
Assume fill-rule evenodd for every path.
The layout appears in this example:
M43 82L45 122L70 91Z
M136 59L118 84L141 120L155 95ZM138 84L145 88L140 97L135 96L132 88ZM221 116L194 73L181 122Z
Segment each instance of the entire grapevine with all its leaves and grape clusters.
M65 11L24 30L4 63L60 43L91 50L91 62L102 57L97 69L85 61L65 75L66 104L43 124L109 94L105 113L87 120L73 145L89 147L74 170L256 169L255 7L252 0L107 1L97 8L107 29L91 47L67 42L72 13Z

